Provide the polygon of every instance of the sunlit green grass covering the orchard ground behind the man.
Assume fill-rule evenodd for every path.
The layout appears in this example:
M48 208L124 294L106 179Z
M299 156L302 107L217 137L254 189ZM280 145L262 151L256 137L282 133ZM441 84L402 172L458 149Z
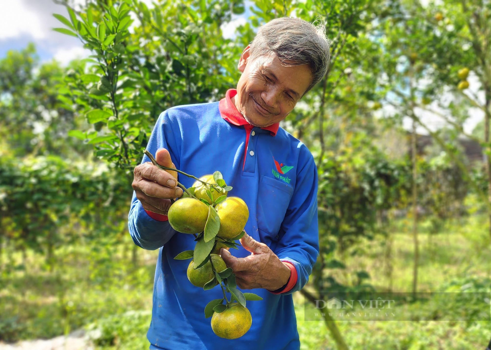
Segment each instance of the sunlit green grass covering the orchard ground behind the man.
M440 233L420 227L420 291L458 290L478 281L491 291L491 249L486 219L447 222ZM410 222L400 220L345 255L349 269L332 271L349 280L364 270L378 290L408 292L412 283ZM388 242L390 244L388 244ZM148 349L153 275L158 251L136 250L129 237L96 247L68 245L56 251L54 271L39 254L13 252L0 284L0 337L6 341L51 338L84 327L97 349ZM477 283L477 282L476 282ZM483 287L484 286L484 287ZM304 300L294 295L301 349L336 349L325 324L305 321ZM441 304L437 305L441 307ZM413 306L411 306L413 307ZM137 311L135 311L137 310ZM416 312L415 306L409 311ZM337 323L350 349L485 349L491 322L350 321Z

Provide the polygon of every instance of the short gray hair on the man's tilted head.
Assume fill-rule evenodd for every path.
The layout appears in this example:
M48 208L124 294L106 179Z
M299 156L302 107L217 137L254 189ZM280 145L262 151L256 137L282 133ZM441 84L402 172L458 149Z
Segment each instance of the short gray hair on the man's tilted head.
M307 91L322 80L329 67L329 41L324 25L313 25L300 18L282 17L271 20L259 28L250 43L250 57L269 55L274 52L284 61L293 61L297 66L308 64L312 81Z

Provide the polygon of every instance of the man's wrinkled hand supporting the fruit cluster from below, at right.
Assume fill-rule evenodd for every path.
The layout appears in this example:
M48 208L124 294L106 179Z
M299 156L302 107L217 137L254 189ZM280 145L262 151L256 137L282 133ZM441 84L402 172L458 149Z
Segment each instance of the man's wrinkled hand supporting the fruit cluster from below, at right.
M240 242L242 247L251 252L249 256L237 258L223 248L220 253L225 264L234 271L237 285L241 289L265 288L273 291L288 282L290 269L267 245L254 240L247 233Z

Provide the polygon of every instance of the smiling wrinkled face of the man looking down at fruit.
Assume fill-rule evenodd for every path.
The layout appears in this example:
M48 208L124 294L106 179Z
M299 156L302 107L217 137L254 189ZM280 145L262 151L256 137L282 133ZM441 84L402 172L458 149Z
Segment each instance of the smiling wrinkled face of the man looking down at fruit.
M288 63L282 64L275 54L251 60L249 46L242 52L242 76L232 102L248 123L266 127L282 121L307 90L312 81L308 65Z

